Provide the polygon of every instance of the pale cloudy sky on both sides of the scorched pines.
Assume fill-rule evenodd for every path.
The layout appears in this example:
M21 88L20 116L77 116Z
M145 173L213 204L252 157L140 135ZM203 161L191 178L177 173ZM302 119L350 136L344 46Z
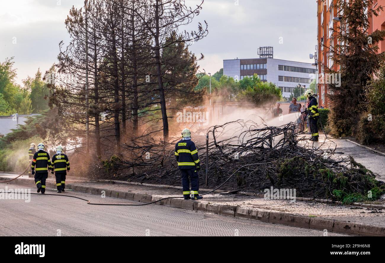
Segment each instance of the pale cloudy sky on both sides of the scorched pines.
M186 0L194 7L200 0ZM44 73L57 62L59 43L69 43L64 25L70 8L84 0L0 0L0 62L14 57L16 82ZM258 58L258 47L272 46L274 58L313 63L317 32L316 0L204 0L198 22L208 35L189 48L201 71L214 74L223 60Z

